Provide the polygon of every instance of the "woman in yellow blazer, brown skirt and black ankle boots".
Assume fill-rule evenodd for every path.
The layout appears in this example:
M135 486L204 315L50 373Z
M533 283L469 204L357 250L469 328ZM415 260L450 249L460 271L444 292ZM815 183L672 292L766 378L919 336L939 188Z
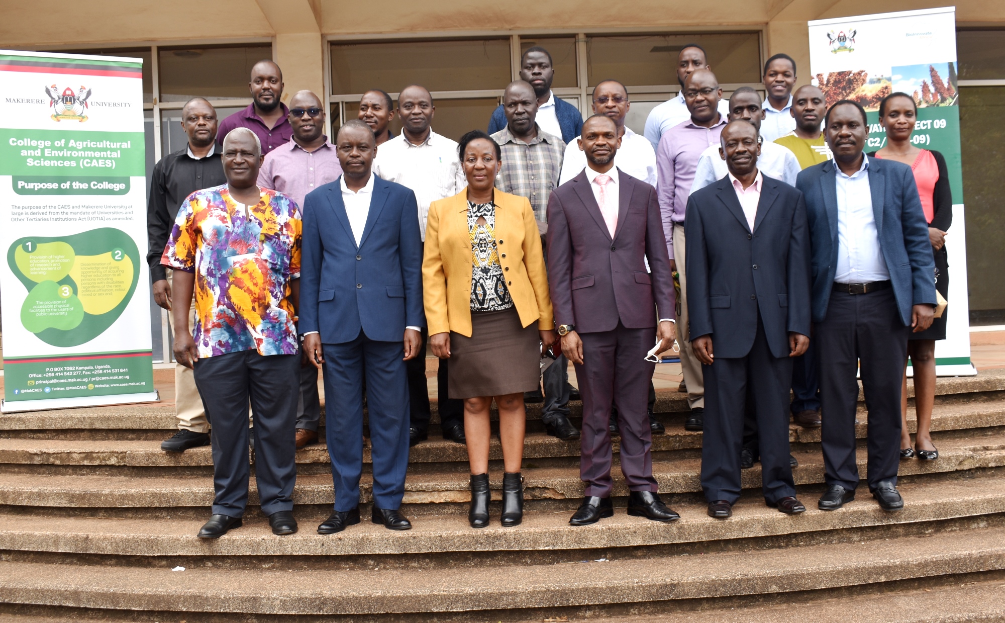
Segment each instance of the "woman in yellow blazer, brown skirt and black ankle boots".
M458 148L467 188L434 201L426 221L423 302L433 354L449 358L450 398L464 399L471 528L488 526L488 407L499 411L502 526L524 514L524 392L538 387L555 342L552 301L531 203L494 188L499 146L485 133Z

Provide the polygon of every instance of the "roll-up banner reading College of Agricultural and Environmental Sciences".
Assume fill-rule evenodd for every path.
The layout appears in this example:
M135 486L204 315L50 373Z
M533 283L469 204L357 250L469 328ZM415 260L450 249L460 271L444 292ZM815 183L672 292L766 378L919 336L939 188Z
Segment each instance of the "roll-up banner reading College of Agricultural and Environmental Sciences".
M4 400L157 400L143 61L0 50Z

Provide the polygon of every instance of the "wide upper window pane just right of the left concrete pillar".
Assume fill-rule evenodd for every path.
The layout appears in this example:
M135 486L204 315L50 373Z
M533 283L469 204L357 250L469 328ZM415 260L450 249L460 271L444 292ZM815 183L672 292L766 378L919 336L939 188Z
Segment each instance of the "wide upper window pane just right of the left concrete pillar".
M504 88L510 82L510 39L332 44L332 92L368 88L398 92Z

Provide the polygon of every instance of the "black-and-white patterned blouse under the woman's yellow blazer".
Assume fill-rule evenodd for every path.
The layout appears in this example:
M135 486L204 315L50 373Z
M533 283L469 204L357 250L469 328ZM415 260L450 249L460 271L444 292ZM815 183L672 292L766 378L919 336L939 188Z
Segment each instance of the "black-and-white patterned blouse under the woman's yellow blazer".
M478 219L484 222L478 224ZM495 204L467 202L471 238L471 312L499 312L513 306L495 251Z

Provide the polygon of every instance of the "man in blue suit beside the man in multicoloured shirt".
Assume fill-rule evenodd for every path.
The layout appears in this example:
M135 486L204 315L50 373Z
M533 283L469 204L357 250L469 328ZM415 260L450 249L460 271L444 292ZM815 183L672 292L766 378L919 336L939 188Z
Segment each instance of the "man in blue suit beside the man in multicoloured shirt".
M405 361L419 356L422 241L415 194L371 172L377 146L361 121L336 139L343 175L304 202L299 328L308 358L325 372L335 511L331 535L360 523L363 381L373 460L374 524L412 527L399 511L408 467ZM324 345L324 346L322 346Z

